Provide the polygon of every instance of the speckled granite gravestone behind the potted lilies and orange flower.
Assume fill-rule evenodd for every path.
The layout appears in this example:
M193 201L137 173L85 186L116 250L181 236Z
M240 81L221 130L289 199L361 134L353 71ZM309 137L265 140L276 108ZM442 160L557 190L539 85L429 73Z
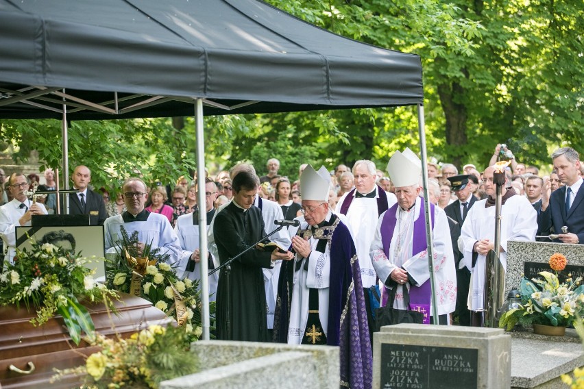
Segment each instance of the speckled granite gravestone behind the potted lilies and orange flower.
M507 243L507 273L505 273L505 295L509 290L518 289L524 277L532 279L541 277L540 271L553 273L548 261L555 254L563 254L568 265L561 271L559 278L564 281L568 274L572 278L584 278L584 246L582 244L548 243L548 242L515 242Z

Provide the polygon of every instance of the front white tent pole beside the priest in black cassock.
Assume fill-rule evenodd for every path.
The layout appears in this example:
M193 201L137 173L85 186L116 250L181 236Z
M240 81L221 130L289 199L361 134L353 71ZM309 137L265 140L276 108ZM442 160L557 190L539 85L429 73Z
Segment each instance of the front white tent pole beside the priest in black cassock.
M199 204L199 253L201 260L201 303L202 303L202 324L203 340L209 340L209 277L204 275L209 273L208 251L207 251L207 212L205 197L205 143L203 134L203 99L195 102L195 131L197 134L197 203Z

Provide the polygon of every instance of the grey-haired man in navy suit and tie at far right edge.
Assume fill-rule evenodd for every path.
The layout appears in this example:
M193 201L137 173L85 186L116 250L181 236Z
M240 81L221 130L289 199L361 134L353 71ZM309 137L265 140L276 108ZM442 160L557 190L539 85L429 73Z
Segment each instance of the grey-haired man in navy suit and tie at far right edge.
M578 152L571 147L561 147L552 153L554 170L557 170L561 186L550 194L550 182L546 179L542 193L542 212L539 213L539 228L542 234L555 234L568 227L568 234L559 234L557 242L584 243L584 188L580 173Z

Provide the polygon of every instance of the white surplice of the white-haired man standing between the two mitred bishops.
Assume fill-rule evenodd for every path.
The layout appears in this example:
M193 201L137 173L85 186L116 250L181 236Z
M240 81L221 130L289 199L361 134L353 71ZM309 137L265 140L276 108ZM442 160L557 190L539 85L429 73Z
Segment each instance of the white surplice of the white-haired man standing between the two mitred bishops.
M351 201L349 210L345 215L348 220L348 227L355 241L363 288L369 288L375 285L377 277L371 258L369 257L369 249L371 248L379 219L377 210L378 191L378 186L375 186L375 197L355 197ZM337 202L337 214L341 213L343 202L349 193L343 194ZM355 190L352 195L355 196L356 193L357 191ZM385 194L387 194L387 208L389 209L397 202L396 195L389 192L385 192Z

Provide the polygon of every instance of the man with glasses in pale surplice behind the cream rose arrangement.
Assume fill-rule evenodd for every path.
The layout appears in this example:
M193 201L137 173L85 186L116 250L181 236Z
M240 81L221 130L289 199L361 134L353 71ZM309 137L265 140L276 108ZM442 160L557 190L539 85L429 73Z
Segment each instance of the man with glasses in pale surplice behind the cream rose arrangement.
M151 243L152 249L160 247L161 254L170 255L168 264L179 262L182 249L169 219L144 209L148 198L144 181L136 177L126 179L122 185L122 194L127 211L107 218L104 223L106 251L117 251L121 240L120 226L123 225L129 236L138 231L138 255L143 253L146 243Z

